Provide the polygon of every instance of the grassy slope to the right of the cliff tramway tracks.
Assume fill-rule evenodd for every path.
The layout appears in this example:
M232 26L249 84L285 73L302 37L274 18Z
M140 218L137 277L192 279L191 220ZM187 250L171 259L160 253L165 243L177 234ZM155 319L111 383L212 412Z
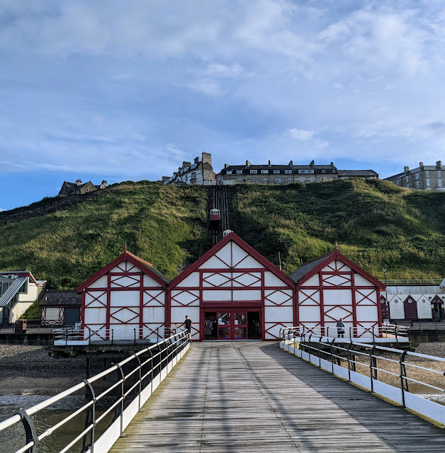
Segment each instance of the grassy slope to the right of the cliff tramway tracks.
M230 226L283 270L334 248L376 277L445 276L445 193L381 180L231 188Z

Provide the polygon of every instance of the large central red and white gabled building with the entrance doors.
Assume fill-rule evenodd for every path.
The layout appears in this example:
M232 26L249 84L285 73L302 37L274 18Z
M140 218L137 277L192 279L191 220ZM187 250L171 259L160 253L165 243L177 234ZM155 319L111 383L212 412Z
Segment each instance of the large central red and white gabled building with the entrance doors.
M171 280L168 322L187 315L193 340L276 340L294 306L292 280L232 232Z

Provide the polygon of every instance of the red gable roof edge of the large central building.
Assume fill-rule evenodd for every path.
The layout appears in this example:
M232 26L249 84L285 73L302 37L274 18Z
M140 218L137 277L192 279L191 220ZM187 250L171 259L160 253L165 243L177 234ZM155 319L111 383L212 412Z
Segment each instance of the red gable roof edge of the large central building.
M210 248L207 252L201 256L201 258L198 258L193 264L189 265L188 268L183 270L177 277L174 277L173 280L170 282L170 286L174 287L176 286L179 282L184 280L188 275L193 273L196 269L198 269L205 261L210 259L212 256L215 255L215 253L218 253L224 246L227 245L227 243L236 243L237 246L242 248L247 254L252 256L255 260L257 260L261 265L264 265L264 268L267 270L270 270L271 273L276 275L280 280L283 280L283 282L286 282L289 286L295 287L295 283L293 280L291 280L285 273L283 273L281 270L279 270L276 265L271 263L269 260L264 258L264 256L261 255L261 253L257 252L252 246L249 246L249 244L246 241L243 241L240 236L237 236L233 231L232 233L227 234L225 238L223 238L221 241L219 241L215 246ZM227 272L229 269L225 269L225 272Z

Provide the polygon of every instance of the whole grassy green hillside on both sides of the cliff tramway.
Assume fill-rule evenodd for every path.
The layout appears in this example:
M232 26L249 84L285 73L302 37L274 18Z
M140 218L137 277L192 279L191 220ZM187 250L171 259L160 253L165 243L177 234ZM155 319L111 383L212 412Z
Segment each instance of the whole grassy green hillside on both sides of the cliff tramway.
M227 188L230 227L290 273L334 247L376 277L445 276L445 193L383 181ZM0 226L0 269L72 288L128 250L168 277L210 247L203 187L118 185L100 196ZM48 202L51 202L49 200ZM44 201L43 201L44 204ZM7 213L2 213L7 214Z

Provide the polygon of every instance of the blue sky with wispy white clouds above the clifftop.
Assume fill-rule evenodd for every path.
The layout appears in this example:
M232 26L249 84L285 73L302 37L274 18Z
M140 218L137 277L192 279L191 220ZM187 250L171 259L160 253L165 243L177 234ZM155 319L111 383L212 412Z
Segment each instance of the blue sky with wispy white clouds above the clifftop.
M443 1L0 0L0 209L63 180L445 161Z

